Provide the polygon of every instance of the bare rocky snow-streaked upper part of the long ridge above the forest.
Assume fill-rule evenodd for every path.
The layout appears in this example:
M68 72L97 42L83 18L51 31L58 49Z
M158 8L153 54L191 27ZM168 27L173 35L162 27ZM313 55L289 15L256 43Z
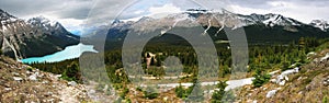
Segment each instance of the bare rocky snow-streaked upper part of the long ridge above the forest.
M174 26L190 27L197 26L197 24L202 26L219 27L220 30L224 26L235 30L242 26L259 24L268 27L284 26L285 30L293 32L297 31L295 26L300 25L314 25L315 27L320 27L322 31L329 28L329 24L324 21L314 21L311 24L305 24L282 14L252 13L250 15L243 15L232 13L225 9L216 12L202 9L189 9L185 12L168 14L167 16L160 19L144 16L138 21L134 21L133 23L116 20L113 22L113 24L115 24L115 26L112 26L114 28L132 28L138 31L152 31L156 28L163 28L163 31L168 31Z

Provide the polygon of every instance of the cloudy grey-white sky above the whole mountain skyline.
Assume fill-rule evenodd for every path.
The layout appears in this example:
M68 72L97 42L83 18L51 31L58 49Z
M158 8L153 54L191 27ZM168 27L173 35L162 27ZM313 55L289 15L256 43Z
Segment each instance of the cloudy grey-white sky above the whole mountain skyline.
M1 0L0 9L21 18L43 15L69 31L100 25L114 19L136 20L145 15L181 12L190 8L227 9L251 13L279 13L304 23L329 20L329 0Z

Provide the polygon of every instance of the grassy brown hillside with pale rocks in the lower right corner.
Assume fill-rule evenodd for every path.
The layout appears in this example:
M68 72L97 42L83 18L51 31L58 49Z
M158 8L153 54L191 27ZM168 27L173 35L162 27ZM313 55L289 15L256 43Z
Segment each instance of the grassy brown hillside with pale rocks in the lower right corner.
M237 101L242 103L327 103L329 49L317 54L310 53L308 58L313 61L303 65L300 70L276 72L272 75L270 82L260 88L243 87ZM327 102L322 102L326 98Z

